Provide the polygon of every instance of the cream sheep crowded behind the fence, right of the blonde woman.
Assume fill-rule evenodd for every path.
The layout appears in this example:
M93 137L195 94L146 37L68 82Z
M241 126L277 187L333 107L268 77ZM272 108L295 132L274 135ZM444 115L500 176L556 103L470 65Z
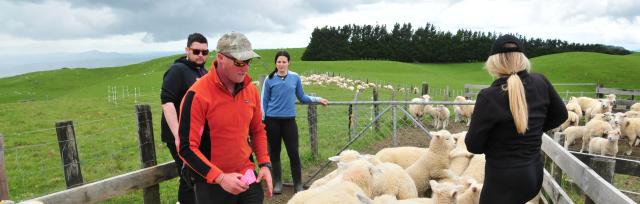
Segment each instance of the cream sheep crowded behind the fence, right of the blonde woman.
M576 139L582 140L580 152L588 150L590 154L611 155L618 153L620 137L628 138L626 155L640 143L640 103L635 103L627 112L612 112L616 96L607 95L604 99L589 97L571 97L567 103L569 117L554 134L565 137L564 147L568 149ZM581 126L581 118L584 125Z

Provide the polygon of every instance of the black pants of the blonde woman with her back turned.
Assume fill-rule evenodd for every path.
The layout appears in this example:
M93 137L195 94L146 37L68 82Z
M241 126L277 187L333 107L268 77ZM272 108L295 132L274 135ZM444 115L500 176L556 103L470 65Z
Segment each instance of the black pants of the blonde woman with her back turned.
M541 160L518 168L493 168L485 165L480 203L521 204L533 199L542 188Z

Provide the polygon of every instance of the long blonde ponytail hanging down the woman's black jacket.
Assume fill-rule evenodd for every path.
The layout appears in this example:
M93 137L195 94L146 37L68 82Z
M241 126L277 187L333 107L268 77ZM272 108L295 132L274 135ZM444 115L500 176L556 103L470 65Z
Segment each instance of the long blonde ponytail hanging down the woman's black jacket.
M518 133L524 134L527 131L527 124L529 124L529 109L522 80L517 74L512 74L507 79L507 93L509 94L509 109L513 115L516 130Z

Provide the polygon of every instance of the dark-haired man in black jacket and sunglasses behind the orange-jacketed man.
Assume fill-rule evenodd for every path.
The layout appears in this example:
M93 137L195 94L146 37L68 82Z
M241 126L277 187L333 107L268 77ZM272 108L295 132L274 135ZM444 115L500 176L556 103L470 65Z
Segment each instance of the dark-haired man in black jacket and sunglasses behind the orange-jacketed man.
M173 160L176 161L180 185L178 187L178 201L181 204L195 203L193 188L187 185L182 176L182 159L178 157L176 140L178 138L178 115L180 102L189 87L200 77L207 73L204 64L209 54L207 38L200 33L193 33L187 38L187 47L184 48L186 56L180 57L164 73L162 79L162 141L167 144Z

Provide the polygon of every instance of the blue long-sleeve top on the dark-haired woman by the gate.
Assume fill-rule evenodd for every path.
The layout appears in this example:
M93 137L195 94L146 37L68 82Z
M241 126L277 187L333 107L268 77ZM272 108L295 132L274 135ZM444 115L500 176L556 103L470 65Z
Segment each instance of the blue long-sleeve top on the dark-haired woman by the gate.
M295 118L296 98L302 103L319 102L320 97L307 96L302 88L300 76L289 71L284 77L274 74L262 85L263 117ZM264 118L263 118L264 119Z

